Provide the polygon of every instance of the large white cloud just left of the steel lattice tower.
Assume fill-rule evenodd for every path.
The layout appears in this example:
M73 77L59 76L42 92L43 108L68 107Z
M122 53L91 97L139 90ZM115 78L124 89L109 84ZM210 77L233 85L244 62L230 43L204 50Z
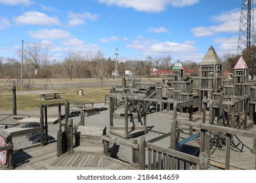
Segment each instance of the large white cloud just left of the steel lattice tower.
M236 33L239 31L240 11L232 10L230 12L213 16L211 17L211 20L220 24L211 25L209 27L194 27L191 31L196 37L215 35L217 33Z

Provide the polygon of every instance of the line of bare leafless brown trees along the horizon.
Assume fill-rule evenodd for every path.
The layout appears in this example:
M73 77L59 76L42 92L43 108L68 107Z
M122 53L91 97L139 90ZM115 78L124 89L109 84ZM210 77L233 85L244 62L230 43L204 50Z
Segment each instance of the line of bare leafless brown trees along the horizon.
M105 58L100 50L92 54L81 52L68 52L62 61L57 61L51 56L47 44L30 43L22 54L18 50L20 60L0 57L0 78L20 78L21 58L23 55L24 78L108 78L116 69L116 59ZM117 60L119 76L125 76L125 71L131 71L136 76L149 77L152 68L169 70L176 61L171 56L151 57L144 60L127 59ZM198 69L194 61L182 62L184 68ZM36 71L36 72L35 72Z

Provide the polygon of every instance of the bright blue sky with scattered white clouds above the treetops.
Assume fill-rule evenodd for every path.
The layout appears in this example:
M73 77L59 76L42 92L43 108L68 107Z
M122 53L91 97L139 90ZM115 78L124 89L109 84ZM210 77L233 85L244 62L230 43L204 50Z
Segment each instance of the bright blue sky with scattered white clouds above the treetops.
M47 44L51 58L98 50L106 58L171 56L202 61L209 46L221 58L238 47L242 0L0 0L0 57L24 44Z

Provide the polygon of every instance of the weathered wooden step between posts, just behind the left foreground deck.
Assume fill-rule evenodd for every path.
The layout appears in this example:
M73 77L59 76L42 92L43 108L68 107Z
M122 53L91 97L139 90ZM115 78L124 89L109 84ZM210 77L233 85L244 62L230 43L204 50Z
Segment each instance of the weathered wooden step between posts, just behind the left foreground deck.
M83 126L77 127L75 133L74 153L103 154L102 136L106 135L106 127Z

